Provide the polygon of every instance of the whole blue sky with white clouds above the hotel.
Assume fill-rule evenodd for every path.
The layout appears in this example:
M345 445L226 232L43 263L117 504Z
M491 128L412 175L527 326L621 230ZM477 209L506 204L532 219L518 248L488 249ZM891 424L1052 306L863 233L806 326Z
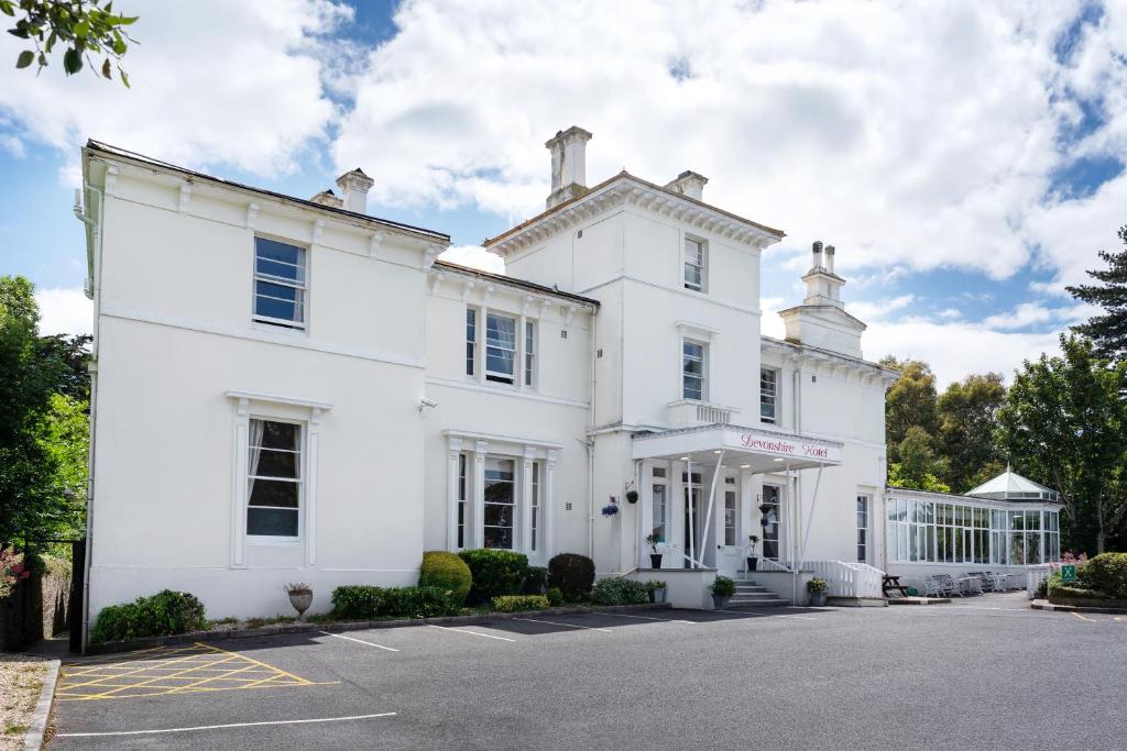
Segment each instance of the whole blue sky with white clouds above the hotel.
M820 239L867 356L942 381L1051 349L1091 313L1063 287L1127 223L1122 2L121 5L131 91L0 68L0 272L37 285L47 330L88 327L87 137L298 196L362 167L371 213L482 262L542 206L544 140L582 125L588 182L693 169L706 200L787 231L767 333Z

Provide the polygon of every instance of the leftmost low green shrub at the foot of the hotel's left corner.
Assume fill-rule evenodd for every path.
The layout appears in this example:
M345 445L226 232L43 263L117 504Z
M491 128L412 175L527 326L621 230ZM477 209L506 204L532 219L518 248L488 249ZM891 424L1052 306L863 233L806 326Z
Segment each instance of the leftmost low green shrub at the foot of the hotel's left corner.
M144 636L171 636L207 627L203 602L188 592L162 590L101 609L90 631L95 644Z

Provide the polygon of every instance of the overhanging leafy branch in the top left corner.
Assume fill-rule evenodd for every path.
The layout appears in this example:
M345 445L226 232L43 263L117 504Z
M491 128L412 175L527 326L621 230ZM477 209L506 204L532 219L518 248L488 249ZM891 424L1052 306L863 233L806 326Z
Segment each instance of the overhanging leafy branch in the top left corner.
M113 0L101 7L103 0L0 0L0 12L16 19L8 29L12 36L26 39L33 46L16 59L16 68L32 63L43 70L56 44L65 47L63 71L78 73L86 63L107 79L114 78L114 68L128 88L130 78L122 70L122 55L128 43L135 42L125 27L136 23L135 16L114 12ZM103 56L101 65L95 56Z

